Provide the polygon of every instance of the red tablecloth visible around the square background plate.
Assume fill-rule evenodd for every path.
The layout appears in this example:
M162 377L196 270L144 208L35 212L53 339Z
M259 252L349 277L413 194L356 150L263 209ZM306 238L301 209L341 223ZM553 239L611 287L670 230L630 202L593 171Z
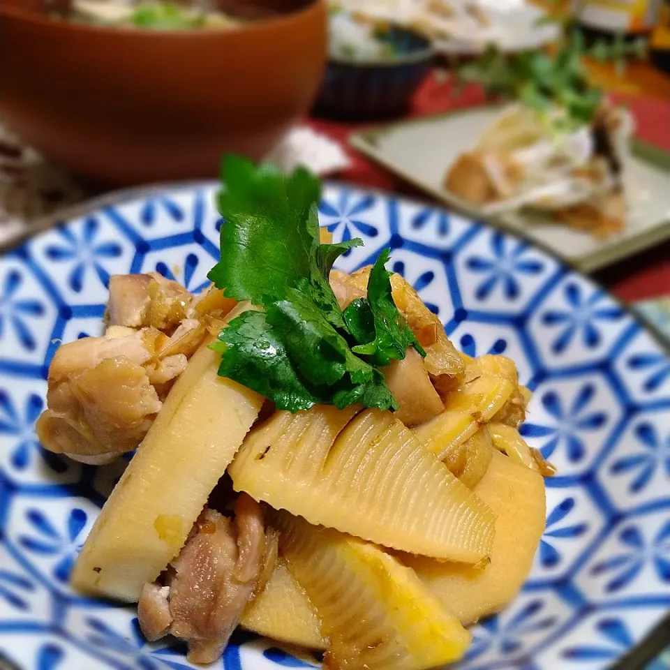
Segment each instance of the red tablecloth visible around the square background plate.
M632 110L636 118L636 134L639 139L670 151L670 101L614 97L616 101L625 103ZM417 92L409 116L422 117L483 103L485 103L484 93L479 87L467 87L455 96L449 82L442 80L438 73L433 73ZM429 198L423 193L417 193L412 186L362 154L348 148L349 135L362 126L322 119L309 119L308 123L315 130L341 142L348 150L351 166L339 173L338 179L362 186L382 188L385 191ZM595 278L607 285L618 297L627 301L670 294L670 242L599 271Z

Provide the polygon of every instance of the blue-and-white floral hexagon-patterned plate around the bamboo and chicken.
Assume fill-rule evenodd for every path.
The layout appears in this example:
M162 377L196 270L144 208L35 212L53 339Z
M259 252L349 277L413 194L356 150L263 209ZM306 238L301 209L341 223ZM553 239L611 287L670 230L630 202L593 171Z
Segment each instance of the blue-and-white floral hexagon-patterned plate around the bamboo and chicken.
M132 607L66 583L123 469L52 458L31 425L61 339L99 332L114 273L159 271L200 290L218 255L214 184L121 199L63 223L0 262L0 650L27 670L190 667L149 644ZM523 593L474 627L464 670L609 666L670 606L670 358L602 290L526 242L381 193L329 185L335 239L363 237L348 271L393 250L470 355L513 357L535 392L524 433L558 466ZM218 667L308 667L237 634Z

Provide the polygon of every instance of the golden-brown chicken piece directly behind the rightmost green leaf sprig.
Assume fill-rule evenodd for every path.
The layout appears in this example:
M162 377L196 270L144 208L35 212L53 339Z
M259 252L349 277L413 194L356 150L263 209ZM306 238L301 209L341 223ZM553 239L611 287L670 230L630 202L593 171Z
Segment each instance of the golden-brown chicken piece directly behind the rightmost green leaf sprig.
M351 275L333 271L331 286L341 307L347 306L357 297L366 295L371 267L363 267ZM444 397L459 385L465 366L454 345L447 338L440 319L433 314L419 294L399 274L391 276L394 302L403 315L417 341L426 350L424 366L431 376L433 386Z

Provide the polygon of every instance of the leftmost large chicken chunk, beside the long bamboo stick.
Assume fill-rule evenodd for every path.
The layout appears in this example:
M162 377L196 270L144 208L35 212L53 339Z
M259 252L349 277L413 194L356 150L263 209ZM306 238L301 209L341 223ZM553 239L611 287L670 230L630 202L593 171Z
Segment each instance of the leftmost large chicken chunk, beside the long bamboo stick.
M42 445L89 464L135 449L163 406L174 379L207 334L189 324L172 341L155 328L112 326L58 348L49 368L47 410L36 429ZM188 340L189 334L191 339ZM197 344L196 344L197 346Z

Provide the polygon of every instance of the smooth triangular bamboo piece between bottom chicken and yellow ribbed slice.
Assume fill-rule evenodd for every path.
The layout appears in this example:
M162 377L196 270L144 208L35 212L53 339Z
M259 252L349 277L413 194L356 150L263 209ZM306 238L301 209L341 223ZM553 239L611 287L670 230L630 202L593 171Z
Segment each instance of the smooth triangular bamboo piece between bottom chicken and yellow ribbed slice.
M240 623L247 630L286 644L328 648L316 610L284 560L277 563L265 589L244 610Z

